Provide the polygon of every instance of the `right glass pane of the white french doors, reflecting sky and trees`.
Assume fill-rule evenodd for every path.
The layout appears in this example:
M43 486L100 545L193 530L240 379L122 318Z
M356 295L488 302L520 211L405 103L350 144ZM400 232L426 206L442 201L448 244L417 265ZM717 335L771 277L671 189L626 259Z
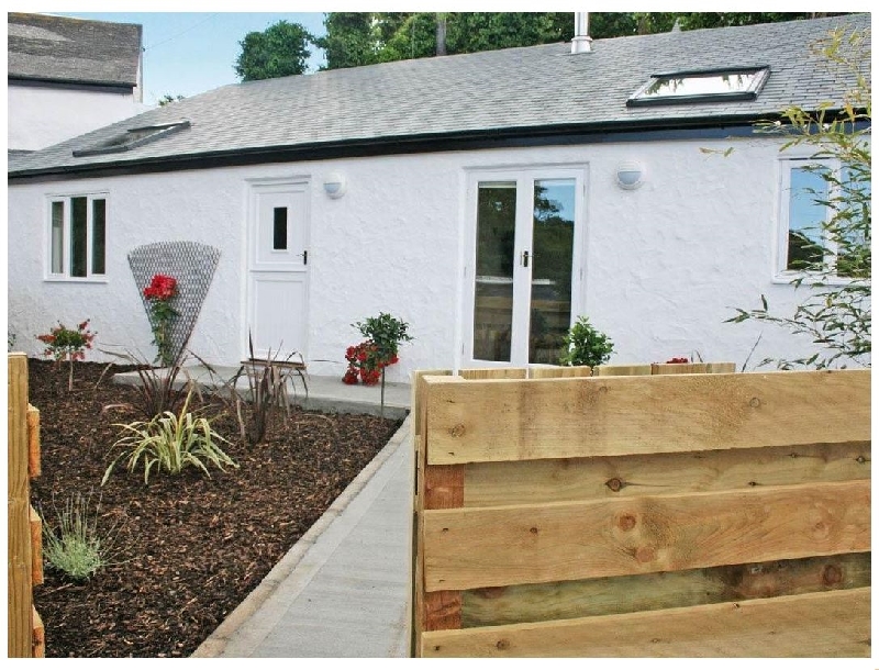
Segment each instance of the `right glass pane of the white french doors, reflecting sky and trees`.
M534 181L528 362L558 365L570 327L575 185Z

